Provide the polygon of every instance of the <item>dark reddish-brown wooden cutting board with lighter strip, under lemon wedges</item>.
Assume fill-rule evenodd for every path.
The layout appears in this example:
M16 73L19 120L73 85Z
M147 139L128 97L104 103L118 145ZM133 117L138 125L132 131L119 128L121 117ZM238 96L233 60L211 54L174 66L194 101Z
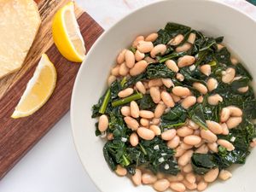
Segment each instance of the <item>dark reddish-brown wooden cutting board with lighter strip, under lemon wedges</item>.
M26 152L70 108L71 94L80 64L67 61L61 56L51 36L51 20L57 9L68 0L36 0L42 18L35 42L19 72L0 80L0 178L2 178ZM90 15L76 6L75 9L80 30L87 51L102 34L99 26ZM26 84L32 78L42 53L49 56L58 73L53 95L43 108L23 119L11 119L15 106L23 94Z

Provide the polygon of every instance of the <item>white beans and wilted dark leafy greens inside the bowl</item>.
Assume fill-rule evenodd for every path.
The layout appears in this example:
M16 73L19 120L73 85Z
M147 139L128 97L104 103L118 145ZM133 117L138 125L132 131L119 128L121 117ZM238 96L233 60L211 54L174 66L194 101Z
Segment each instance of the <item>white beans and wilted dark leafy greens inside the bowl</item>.
M123 49L92 108L119 176L157 191L202 191L256 145L252 76L223 37L167 23Z

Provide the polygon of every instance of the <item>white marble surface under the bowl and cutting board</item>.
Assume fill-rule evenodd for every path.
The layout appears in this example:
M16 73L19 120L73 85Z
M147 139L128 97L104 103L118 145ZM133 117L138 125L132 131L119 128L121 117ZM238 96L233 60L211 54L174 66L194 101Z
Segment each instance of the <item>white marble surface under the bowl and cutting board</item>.
M244 0L223 0L256 19ZM104 29L156 0L77 0ZM97 192L73 145L69 113L0 182L0 192Z

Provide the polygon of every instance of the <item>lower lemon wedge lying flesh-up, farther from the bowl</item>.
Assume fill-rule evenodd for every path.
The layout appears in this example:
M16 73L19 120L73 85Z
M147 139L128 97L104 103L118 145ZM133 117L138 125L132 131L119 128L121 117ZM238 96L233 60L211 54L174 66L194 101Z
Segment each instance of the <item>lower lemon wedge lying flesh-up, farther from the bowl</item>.
M57 73L54 64L49 61L47 55L43 54L11 117L18 119L38 111L55 90L56 79Z

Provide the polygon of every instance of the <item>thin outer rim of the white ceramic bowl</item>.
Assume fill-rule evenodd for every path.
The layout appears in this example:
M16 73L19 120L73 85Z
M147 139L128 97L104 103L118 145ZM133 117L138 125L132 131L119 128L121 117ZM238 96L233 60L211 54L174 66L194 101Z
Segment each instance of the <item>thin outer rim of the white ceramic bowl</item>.
M130 17L131 15L139 12L141 9L148 9L148 7L151 7L151 6L154 6L155 4L158 4L158 3L163 3L163 2L175 2L175 1L183 1L183 2L186 2L186 1L194 1L194 2L210 2L210 3L216 3L216 4L219 4L219 5L222 5L228 9L233 9L235 10L236 12L238 12L238 14L241 14L241 15L244 15L247 17L247 19L249 20L252 20L255 25L256 25L256 18L254 18L252 15L248 15L247 13L245 13L243 10L241 9L238 9L237 7L235 6L232 6L231 4L229 3L225 3L224 1L221 1L221 0L160 0L160 1L157 1L157 2L153 2L153 3L148 3L147 5L144 5L138 9L134 9L132 10L129 14L127 15L124 15L122 16L119 20L116 20L112 26L110 26L107 30L104 29L104 32L102 33L102 35L100 35L99 38L96 39L96 42L90 47L90 50L88 51L88 54L85 56L85 59L84 61L80 64L80 68L79 68L79 72L77 73L77 76L76 76L76 79L75 79L75 82L73 84L73 91L72 91L72 96L71 96L71 104L70 104L70 121L71 121L71 128L72 128L72 137L73 137L73 143L74 143L74 146L75 146L75 150L79 156L79 160L81 162L81 164L83 165L83 168L84 168L84 171L85 173L90 177L90 181L92 183L94 183L96 189L98 189L99 191L102 191L102 189L100 189L100 187L96 184L96 182L93 180L93 178L90 176L90 173L87 171L87 168L84 164L84 161L82 160L82 157L80 155L80 151L79 151L79 142L77 141L76 137L75 137L75 128L74 128L74 116L75 116L75 112L74 112L74 105L75 105L75 95L77 94L78 90L79 90L79 79L81 78L81 74L82 74L82 71L84 71L84 69L86 68L86 65L84 64L86 62L86 57L89 57L90 55L93 54L94 52L94 49L96 47L97 44L99 44L99 42L101 42L102 38L105 38L105 36L112 31L112 29L119 25L119 23L121 23L123 20L125 20L125 18L127 17ZM247 3L247 2L246 2ZM252 5L253 6L253 5Z

